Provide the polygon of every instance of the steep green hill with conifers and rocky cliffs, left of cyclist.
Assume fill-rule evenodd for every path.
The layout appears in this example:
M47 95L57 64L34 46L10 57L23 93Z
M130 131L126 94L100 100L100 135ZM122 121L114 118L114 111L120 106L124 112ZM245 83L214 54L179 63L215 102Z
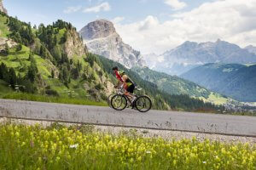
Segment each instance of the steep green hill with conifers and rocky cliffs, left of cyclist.
M113 82L108 73L88 54L70 23L57 20L32 29L7 14L0 14L0 20L0 81L7 87L20 87L29 94L72 95L96 101L111 93Z

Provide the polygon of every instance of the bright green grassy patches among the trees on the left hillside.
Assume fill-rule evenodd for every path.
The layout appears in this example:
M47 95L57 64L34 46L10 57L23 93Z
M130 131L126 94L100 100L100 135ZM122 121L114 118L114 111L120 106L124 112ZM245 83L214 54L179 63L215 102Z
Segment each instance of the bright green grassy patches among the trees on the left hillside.
M9 34L8 26L5 24L6 17L0 15L0 37L7 37ZM61 29L56 35L58 42L61 41L66 29ZM15 52L15 48L10 49L8 56L0 56L0 63L4 63L8 67L13 67L16 71L16 74L20 74L22 77L26 75L27 67L30 65L29 61L30 48L22 46L20 52ZM74 62L78 60L82 63L83 66L88 65L84 62L85 56L74 56ZM38 66L38 73L42 76L43 81L50 86L51 89L55 90L60 94L60 99L55 97L40 97L37 94L13 94L14 92L9 88L6 82L0 82L0 97L9 98L9 99L28 99L34 101L46 101L46 102L56 102L56 103L71 103L71 104L82 104L82 105L106 105L104 102L93 102L90 99L90 94L87 93L88 89L84 88L83 83L85 81L81 80L72 80L67 88L62 82L57 78L51 78L51 70L56 70L55 65L53 65L49 59L43 59L37 54L34 55ZM93 73L92 68L89 67L88 72ZM99 83L99 77L95 74L96 81L94 83ZM87 82L88 83L88 82ZM94 84L91 84L91 87L94 87ZM76 98L76 99L70 99Z

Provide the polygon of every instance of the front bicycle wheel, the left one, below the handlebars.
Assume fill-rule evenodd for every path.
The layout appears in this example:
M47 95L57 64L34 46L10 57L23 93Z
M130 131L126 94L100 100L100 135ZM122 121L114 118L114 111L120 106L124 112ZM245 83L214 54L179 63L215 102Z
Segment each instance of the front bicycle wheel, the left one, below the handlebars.
M111 106L116 111L123 111L127 106L127 99L124 95L115 94L111 99Z

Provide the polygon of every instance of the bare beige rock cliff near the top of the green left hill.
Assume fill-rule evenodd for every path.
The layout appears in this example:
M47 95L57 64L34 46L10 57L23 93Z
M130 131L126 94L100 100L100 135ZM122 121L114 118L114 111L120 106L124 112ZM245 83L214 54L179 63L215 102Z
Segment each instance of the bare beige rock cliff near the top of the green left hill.
M72 58L74 55L82 56L87 53L83 40L74 29L67 31L67 41L64 44L64 50L69 58Z

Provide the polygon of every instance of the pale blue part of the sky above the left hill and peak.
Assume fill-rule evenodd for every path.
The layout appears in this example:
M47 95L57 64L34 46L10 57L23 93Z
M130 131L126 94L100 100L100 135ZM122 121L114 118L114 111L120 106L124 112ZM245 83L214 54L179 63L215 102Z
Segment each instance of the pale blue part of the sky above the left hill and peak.
M186 7L180 11L190 10L198 7L205 0L184 0ZM143 20L148 15L159 17L160 21L169 20L170 14L176 12L164 0L3 0L9 14L18 16L20 20L50 24L55 20L62 19L72 22L79 30L90 21L98 18L113 20L116 17L124 17L124 23ZM84 13L85 8L108 3L110 9L107 11ZM67 14L68 8L77 9ZM65 12L66 11L66 12Z

